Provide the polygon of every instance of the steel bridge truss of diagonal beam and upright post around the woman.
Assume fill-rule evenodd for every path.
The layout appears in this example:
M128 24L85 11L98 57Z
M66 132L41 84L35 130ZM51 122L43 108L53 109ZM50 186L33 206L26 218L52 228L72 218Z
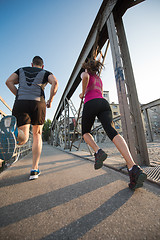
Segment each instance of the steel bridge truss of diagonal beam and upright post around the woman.
M126 10L142 0L104 0L93 26L86 39L84 47L73 69L71 77L64 90L59 106L52 121L52 135L56 135L57 121L64 112L64 146L69 148L69 111L68 100L75 92L81 82L82 63L92 55L97 42L98 49L101 50L106 41L109 40L112 52L112 60L115 72L115 80L118 92L119 106L123 136L126 139L131 154L135 162L139 165L149 165L148 150L143 129L140 104L136 91L136 85L125 36L122 16ZM97 41L98 33L98 41Z

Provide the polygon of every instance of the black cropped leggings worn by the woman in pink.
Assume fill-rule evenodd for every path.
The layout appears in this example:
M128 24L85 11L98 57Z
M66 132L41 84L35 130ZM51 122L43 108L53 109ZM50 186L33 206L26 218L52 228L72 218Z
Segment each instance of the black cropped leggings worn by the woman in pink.
M84 104L82 113L82 135L90 133L96 116L101 122L107 136L112 141L118 132L112 126L112 111L108 101L104 98L95 98Z

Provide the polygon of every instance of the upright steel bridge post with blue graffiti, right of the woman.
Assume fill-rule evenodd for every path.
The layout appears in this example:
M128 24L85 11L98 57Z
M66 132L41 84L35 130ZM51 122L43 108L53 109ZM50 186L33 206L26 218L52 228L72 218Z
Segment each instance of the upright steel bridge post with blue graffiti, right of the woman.
M124 138L128 143L135 162L139 165L149 165L140 105L122 18L115 25L113 14L111 13L107 20L107 28L115 70Z

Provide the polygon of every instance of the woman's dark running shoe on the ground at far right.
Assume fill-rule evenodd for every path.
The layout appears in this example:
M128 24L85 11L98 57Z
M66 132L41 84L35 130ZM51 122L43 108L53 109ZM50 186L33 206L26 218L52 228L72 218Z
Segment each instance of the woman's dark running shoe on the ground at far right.
M130 177L129 188L135 190L143 187L143 182L147 179L147 174L137 165L134 165L132 170L128 171Z

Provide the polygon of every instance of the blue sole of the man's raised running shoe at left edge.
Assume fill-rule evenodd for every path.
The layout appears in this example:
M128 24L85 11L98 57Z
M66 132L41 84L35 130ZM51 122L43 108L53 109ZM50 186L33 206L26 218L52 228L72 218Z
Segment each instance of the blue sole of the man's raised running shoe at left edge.
M16 149L16 138L14 131L16 129L16 118L6 116L0 121L0 158L10 160Z

